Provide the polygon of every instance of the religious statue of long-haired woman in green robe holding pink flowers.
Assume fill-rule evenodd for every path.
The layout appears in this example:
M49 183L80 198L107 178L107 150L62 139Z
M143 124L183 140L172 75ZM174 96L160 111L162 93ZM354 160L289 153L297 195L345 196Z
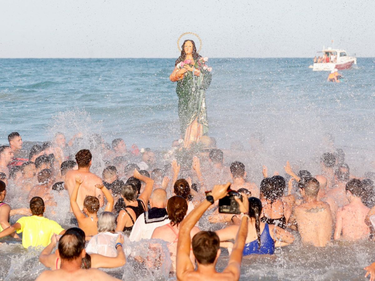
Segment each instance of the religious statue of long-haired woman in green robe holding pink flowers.
M184 147L208 132L205 91L211 83L210 67L205 65L208 58L202 58L196 51L193 40L185 40L181 55L169 79L177 82L178 117Z

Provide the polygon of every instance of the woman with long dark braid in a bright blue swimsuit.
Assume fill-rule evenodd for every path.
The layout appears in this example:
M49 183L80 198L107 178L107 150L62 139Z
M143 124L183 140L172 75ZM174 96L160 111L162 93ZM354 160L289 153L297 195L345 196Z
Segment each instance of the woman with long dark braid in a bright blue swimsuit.
M246 198L246 197L244 197ZM246 200L244 200L246 201ZM273 254L275 247L282 247L293 243L294 236L287 230L273 224L266 224L260 221L262 212L262 202L256 197L250 197L249 201L249 220L248 235L243 250L244 256L251 254ZM238 201L237 201L238 202ZM217 230L216 233L220 241L227 241L236 238L239 231L238 225L225 227Z

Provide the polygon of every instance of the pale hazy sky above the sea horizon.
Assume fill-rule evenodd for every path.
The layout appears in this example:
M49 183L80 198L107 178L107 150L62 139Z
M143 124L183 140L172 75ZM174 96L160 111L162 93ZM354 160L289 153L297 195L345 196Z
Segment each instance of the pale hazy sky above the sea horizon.
M375 1L1 1L1 58L177 57L198 33L208 57L375 57ZM196 40L198 41L198 40Z

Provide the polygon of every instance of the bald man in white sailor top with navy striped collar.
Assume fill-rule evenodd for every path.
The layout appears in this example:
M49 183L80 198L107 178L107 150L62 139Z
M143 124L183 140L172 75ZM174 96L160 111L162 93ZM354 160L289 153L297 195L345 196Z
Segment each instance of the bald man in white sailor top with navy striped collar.
M166 192L162 188L156 188L150 197L150 207L147 212L140 215L134 223L130 233L130 241L140 241L141 239L151 239L154 229L170 223L165 209Z

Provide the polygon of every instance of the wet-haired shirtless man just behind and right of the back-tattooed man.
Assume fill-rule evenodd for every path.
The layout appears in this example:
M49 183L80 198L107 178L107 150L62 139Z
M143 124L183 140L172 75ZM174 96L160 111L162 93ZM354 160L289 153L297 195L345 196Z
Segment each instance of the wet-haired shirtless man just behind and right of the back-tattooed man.
M334 180L335 188L329 190L322 200L329 203L333 218L336 218L337 209L349 203L345 192L345 185L349 180L349 173L336 170Z

